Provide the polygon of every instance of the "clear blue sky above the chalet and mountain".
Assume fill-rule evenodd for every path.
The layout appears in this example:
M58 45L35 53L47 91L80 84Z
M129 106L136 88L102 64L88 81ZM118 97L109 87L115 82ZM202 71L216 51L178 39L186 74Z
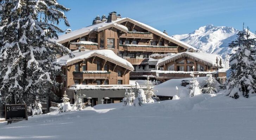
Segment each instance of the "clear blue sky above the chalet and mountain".
M68 8L72 30L92 24L97 16L116 11L169 35L187 34L206 24L256 30L256 0L58 0ZM60 28L65 30L61 23Z

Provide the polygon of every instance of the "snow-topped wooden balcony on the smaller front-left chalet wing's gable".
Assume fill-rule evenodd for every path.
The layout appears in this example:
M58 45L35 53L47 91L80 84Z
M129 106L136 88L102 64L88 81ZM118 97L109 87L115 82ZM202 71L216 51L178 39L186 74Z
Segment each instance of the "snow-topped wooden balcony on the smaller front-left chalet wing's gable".
M109 79L110 72L106 71L75 71L74 79Z

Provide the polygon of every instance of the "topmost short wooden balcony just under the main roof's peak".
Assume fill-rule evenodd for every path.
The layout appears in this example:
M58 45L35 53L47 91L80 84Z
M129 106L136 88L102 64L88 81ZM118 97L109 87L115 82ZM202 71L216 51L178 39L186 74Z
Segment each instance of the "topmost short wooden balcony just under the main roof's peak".
M120 36L121 38L143 38L143 39L153 39L153 34L148 32L137 32L129 31Z

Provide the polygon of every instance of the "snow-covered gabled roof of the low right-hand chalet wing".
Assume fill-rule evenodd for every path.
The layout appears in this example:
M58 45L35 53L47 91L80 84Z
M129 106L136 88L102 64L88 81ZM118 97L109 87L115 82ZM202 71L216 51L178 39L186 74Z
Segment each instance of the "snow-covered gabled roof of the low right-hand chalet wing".
M188 57L191 59L198 59L197 61L203 62L203 63L207 63L208 65L212 65L212 66L217 66L216 65L216 57L218 58L218 63L221 59L221 57L219 55L216 54L208 54L208 53L203 53L203 52L181 52L178 54L174 54L171 56L166 56L162 59L158 60L157 65L158 66L162 66L165 63L174 61L175 59L181 58L181 57Z

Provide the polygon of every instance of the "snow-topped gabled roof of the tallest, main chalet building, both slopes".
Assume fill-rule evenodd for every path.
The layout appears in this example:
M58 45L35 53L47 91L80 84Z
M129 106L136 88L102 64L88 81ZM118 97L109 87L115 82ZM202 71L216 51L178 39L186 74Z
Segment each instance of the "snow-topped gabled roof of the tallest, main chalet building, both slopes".
M151 26L148 26L144 23L141 23L139 21L136 21L136 20L133 20L133 19L130 19L130 18L121 18L121 19L117 19L115 21L112 21L110 23L108 22L102 22L102 23L98 23L96 25L91 25L91 26L88 26L88 27L85 27L85 28L81 28L81 29L78 29L78 30L74 30L72 31L71 33L69 34L63 34L63 35L60 35L59 36L59 39L56 40L58 43L64 43L64 42L68 42L70 40L74 40L76 38L79 38L79 37L82 37L82 36L85 36L85 35L88 35L90 33L93 33L94 31L101 31L101 30L105 30L105 29L108 29L110 27L114 27L114 28L117 28L117 29L120 29L122 30L123 32L127 33L128 32L128 29L127 27L123 26L123 25L120 25L121 23L123 22L126 22L126 21L129 21L145 30L148 30L158 36L161 36L162 38L165 38L166 40L169 40L169 41L172 41L173 43L175 44L178 44L179 46L181 47L184 47L186 49L188 48L192 48L194 50L197 50L196 48L192 47L191 45L188 45L180 40L177 40L171 36L168 36L166 35L165 33L163 33L162 31L159 31Z

